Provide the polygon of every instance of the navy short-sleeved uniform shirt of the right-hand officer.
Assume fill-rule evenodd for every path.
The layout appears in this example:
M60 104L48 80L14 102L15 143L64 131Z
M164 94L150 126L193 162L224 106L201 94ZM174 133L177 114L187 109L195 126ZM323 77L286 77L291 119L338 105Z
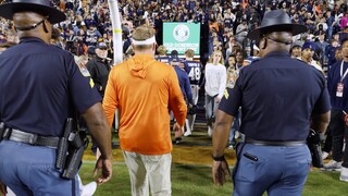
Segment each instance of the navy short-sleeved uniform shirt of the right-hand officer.
M320 71L288 53L272 52L240 71L219 109L236 117L239 107L246 137L306 140L311 115L330 111L331 103Z

